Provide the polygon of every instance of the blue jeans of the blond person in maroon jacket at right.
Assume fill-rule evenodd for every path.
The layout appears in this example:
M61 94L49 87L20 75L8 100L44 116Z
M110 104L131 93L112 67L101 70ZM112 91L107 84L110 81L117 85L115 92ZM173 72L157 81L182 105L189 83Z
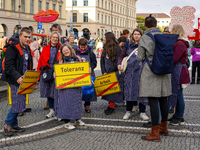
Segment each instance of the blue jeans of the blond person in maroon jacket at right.
M184 110L185 110L185 101L183 98L183 88L180 85L180 89L178 90L175 116L178 118L183 118Z

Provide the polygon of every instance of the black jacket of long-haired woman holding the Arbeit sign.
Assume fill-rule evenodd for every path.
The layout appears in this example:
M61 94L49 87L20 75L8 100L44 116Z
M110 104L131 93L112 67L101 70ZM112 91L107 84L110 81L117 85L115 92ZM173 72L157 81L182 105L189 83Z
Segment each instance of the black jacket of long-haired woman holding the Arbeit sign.
M115 61L113 62L113 65L109 68L108 72L106 71L106 67L105 67L105 58L102 58L102 56L101 56L100 64L101 64L102 74L116 72L118 70L117 69L117 61L118 61L118 58L119 58L121 52L122 52L121 48L117 45Z

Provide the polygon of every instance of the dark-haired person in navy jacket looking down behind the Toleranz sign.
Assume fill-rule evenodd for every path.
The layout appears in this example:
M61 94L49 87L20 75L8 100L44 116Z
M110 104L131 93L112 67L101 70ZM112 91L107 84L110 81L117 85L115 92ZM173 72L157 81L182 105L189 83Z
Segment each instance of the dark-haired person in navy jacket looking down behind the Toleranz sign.
M88 41L85 38L81 38L78 42L78 47L76 50L76 54L79 55L82 59L82 61L89 61L90 62L90 71L91 75L95 77L94 69L97 66L97 60L96 60L96 55L94 54L93 50L87 45ZM85 106L85 112L90 113L90 102L92 101L97 101L97 96L94 94L92 97L89 99L84 99L85 101L84 106Z

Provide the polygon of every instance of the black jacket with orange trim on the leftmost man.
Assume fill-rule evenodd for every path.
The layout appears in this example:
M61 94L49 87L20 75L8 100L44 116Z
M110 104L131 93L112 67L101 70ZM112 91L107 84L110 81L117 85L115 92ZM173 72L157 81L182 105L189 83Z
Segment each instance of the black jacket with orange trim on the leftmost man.
M2 74L1 80L6 81L15 86L19 86L17 80L23 76L23 52L21 49L20 42L17 38L11 38L9 41L12 43L6 49L5 54L5 70ZM29 59L28 59L28 70L33 68L33 59L34 53L28 47Z

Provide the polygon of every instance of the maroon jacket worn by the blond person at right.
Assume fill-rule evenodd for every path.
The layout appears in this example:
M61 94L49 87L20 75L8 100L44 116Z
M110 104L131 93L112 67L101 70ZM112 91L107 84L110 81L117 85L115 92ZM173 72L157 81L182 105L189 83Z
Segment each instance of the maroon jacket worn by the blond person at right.
M174 44L174 64L180 62L185 64L188 59L189 43L185 40L179 39ZM190 75L187 66L182 67L180 84L190 83Z

